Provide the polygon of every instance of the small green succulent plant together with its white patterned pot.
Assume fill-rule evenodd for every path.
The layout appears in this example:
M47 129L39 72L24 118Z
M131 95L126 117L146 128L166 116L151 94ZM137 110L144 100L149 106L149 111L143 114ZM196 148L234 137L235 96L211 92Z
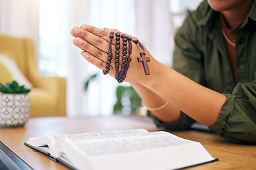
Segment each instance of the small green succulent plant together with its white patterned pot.
M21 127L29 119L31 89L17 81L0 83L0 128Z

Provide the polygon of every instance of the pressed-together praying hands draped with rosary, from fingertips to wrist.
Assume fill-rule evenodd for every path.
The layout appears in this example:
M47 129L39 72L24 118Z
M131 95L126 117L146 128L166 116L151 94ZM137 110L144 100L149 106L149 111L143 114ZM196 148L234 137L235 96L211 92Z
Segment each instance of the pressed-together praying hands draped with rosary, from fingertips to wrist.
M157 63L137 38L117 30L82 25L73 28L71 34L75 37L74 44L82 49L85 60L102 69L104 74L115 77L119 83L124 79L130 83L146 81L149 78L145 74L150 74L150 65ZM148 63L150 59L152 64Z

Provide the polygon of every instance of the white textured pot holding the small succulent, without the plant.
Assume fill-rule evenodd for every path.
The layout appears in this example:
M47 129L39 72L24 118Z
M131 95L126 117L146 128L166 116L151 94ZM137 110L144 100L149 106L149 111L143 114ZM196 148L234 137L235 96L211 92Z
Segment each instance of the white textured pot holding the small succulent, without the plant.
M0 94L0 128L16 128L29 119L28 94Z

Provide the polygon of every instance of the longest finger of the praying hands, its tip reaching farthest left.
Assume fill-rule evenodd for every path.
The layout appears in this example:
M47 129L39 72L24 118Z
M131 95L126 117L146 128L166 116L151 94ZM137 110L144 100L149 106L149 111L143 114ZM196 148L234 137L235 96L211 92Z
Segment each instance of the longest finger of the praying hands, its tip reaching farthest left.
M109 42L107 42L103 38L100 38L100 37L88 32L86 30L83 30L82 28L74 27L71 30L70 33L75 38L80 37L83 40L89 42L91 45L93 45L93 46L97 47L98 49L102 50L103 52L108 52L108 50L109 50Z

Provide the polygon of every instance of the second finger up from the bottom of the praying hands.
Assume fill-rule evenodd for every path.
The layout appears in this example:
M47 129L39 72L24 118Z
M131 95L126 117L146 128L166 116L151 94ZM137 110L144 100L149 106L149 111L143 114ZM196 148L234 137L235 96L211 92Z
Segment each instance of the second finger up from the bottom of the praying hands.
M93 56L101 59L101 60L107 60L107 52L103 52L102 50L98 49L97 47L91 45L90 43L86 42L80 37L77 37L73 40L74 45L79 47L81 50L85 50L87 52L90 52Z

